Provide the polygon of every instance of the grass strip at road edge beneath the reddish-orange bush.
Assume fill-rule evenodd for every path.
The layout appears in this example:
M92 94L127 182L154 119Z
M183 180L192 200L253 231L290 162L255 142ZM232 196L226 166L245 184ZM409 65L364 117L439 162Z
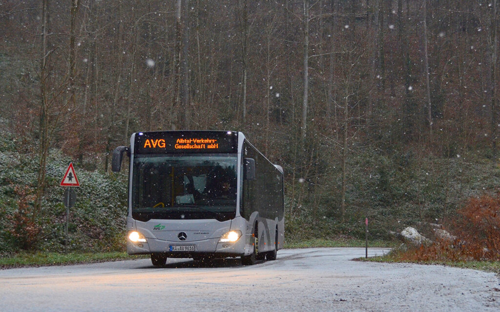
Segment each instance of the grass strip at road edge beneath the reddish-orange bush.
M400 259L398 253L388 253L384 256L371 257L368 259L358 258L358 261L385 262L385 263L415 263L422 265L442 265L463 269L474 269L485 272L500 274L500 261L405 261Z

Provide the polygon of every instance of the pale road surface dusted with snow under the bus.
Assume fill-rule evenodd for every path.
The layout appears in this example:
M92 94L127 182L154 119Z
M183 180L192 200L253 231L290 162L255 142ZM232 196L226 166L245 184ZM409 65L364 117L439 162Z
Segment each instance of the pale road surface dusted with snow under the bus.
M500 311L494 274L350 261L363 256L312 248L254 266L168 259L157 268L142 259L0 270L0 311Z

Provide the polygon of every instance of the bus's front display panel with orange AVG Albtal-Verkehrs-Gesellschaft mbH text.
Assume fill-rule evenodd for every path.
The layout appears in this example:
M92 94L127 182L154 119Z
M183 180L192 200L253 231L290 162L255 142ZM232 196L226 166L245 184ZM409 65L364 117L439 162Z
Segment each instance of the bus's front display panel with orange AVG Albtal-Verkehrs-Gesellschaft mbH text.
M135 134L134 153L235 153L237 132L161 131Z

